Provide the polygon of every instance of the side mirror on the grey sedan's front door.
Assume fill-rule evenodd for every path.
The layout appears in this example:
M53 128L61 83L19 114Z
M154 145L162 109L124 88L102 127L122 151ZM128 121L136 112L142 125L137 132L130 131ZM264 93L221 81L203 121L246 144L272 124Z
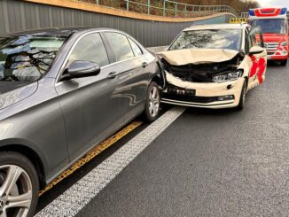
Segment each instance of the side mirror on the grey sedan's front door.
M71 78L95 76L100 73L100 66L91 61L74 61L67 68L67 75Z

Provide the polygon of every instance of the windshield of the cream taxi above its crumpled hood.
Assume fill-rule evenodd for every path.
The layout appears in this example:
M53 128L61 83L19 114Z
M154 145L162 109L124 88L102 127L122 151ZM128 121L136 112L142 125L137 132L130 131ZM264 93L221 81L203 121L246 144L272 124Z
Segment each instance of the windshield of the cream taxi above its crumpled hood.
M205 29L184 31L169 50L180 49L228 49L240 50L241 29Z

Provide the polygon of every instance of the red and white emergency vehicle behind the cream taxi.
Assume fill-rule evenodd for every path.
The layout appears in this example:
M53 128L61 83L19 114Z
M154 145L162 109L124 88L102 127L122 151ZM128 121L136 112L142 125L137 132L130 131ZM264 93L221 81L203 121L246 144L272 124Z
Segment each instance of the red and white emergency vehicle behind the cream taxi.
M250 9L248 21L253 27L261 27L268 59L286 66L289 55L287 8Z

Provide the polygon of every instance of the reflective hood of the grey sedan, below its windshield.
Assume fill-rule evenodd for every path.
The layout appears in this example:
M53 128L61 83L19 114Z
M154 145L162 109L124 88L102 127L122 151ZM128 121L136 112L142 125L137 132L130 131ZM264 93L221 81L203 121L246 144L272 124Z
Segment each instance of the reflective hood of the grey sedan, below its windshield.
M31 96L38 82L0 81L0 110Z

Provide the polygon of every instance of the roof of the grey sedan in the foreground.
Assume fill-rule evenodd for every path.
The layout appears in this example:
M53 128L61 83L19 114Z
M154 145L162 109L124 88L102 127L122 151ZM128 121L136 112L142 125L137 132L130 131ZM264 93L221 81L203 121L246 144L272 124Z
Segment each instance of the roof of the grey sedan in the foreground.
M42 36L63 36L68 37L76 32L89 31L89 30L108 30L109 28L92 28L92 27L57 27L57 28L43 28L22 31L1 36L19 36L19 35L42 35Z

